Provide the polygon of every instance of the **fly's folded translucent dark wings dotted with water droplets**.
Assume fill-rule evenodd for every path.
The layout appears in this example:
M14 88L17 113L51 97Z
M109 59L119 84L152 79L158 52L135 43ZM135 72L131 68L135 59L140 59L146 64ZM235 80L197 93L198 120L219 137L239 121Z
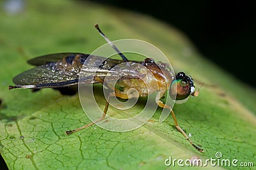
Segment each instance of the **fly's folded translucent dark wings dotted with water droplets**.
M120 75L120 71L110 70L124 62L123 60L92 56L90 57L90 61L86 61L85 66L83 66L88 56L88 54L83 53L55 53L36 57L35 59L29 60L29 64L39 66L18 74L13 78L13 83L18 86L33 85L35 89L77 85L82 67L83 76L80 78L80 82L83 83L99 83L99 79L95 80L95 76L104 80L106 74L108 74L108 80L111 81L116 80L116 76ZM99 61L102 64L95 68L95 63ZM122 77L122 79L132 78L138 77L131 74L126 74Z

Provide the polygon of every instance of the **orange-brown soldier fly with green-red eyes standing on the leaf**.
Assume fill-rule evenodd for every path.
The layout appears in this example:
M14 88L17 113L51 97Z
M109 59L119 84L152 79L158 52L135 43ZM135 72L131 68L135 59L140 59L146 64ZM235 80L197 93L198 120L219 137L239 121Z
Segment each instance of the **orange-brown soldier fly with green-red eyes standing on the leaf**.
M100 65L93 76L93 81L87 80L84 78L83 83L104 83L104 78L108 71L114 66L124 63L124 62L136 62L141 64L142 66L147 67L147 69L155 76L159 89L154 89L154 87L149 87L150 90L144 90L145 85L143 85L142 81L138 78L134 78L132 76L126 76L122 78L119 82L124 86L124 91L120 91L115 89L113 94L109 94L109 97L116 96L121 99L129 99L127 95L127 90L131 87L138 90L138 97L146 97L148 94L156 92L159 90L159 95L157 95L156 103L161 108L170 109L170 113L175 123L175 127L178 131L180 131L183 136L188 139L189 143L196 148L199 152L203 152L204 150L199 146L196 146L188 137L188 135L179 127L177 119L175 118L175 114L172 108L166 104L164 104L160 99L164 96L165 92L169 90L169 95L172 99L176 99L177 101L188 99L189 96L198 96L199 89L195 90L195 86L193 83L193 79L183 72L179 72L178 74L171 76L168 74L168 70L166 65L164 64L156 64L153 59L147 58L143 61L134 61L128 60L125 55L116 48L116 46L107 38L107 36L100 30L99 25L96 24L95 28L99 31L100 35L106 39L106 41L113 47L113 49L122 57L122 60L118 59L105 59L104 62ZM84 53L52 53L49 55L43 55L40 57L36 57L34 59L28 60L28 63L34 65L36 67L29 69L28 71L24 71L23 73L18 74L13 78L14 86L10 85L9 89L43 89L43 88L63 88L70 87L74 85L78 85L79 83L79 72L86 61L86 59L90 56L90 54ZM93 56L92 59L95 61L102 59L104 57ZM92 61L93 62L93 61ZM86 68L90 69L90 66L86 66ZM161 69L160 69L161 67ZM163 72L165 72L163 74ZM166 77L166 75L168 75ZM151 81L151 80L147 80ZM125 93L126 92L126 93ZM84 125L83 127L79 127L72 131L66 131L66 134L71 134L73 132L77 132L81 129L89 127L90 125L103 120L106 117L108 106L109 106L109 97L106 99L106 105L104 108L104 114L101 118L92 122L90 124Z

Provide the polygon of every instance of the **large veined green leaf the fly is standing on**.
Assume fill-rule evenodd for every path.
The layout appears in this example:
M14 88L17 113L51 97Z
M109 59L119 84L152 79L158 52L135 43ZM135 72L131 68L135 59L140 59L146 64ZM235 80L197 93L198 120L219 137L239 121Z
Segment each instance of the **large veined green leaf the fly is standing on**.
M60 0L26 1L20 13L3 10L0 18L0 152L9 169L182 169L177 162L166 167L164 160L216 159L216 152L222 153L221 159L239 160L237 164L256 164L255 90L201 57L170 25L109 6ZM110 132L94 125L67 136L68 129L90 123L78 95L62 96L52 89L8 90L13 76L31 68L28 59L56 52L91 53L103 45L93 27L96 22L112 40L134 38L156 45L175 71L197 80L196 87L205 82L200 96L173 108L180 127L204 153L184 139L171 117L158 122L161 109L134 131ZM102 93L95 97L104 107ZM138 104L129 111L141 108ZM210 164L205 168L240 169Z

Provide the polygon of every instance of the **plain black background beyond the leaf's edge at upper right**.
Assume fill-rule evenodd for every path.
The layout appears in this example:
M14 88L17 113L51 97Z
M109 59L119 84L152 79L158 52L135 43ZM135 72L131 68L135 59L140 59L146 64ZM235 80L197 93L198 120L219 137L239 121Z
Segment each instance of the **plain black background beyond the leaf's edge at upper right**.
M96 0L137 11L183 31L199 52L229 73L256 87L255 5L248 1Z

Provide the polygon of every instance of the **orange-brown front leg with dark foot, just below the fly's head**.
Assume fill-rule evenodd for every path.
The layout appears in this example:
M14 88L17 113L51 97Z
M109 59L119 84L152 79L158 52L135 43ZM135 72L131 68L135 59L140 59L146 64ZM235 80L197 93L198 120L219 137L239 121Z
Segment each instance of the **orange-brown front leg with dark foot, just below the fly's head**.
M188 138L188 135L180 128L180 126L179 126L179 124L178 124L178 122L177 122L177 119L176 119L176 117L175 117L175 114L174 114L172 108L171 108L170 106L164 104L162 101L158 101L157 104L158 104L158 106L161 107L161 108L168 108L168 109L170 109L176 129L178 129L178 131L180 131L180 132L183 134L183 136L189 141L189 143L190 143L194 148L196 148L196 150L198 150L199 152L204 152L204 150L203 150L202 148L200 148L199 146L196 146L196 145Z

